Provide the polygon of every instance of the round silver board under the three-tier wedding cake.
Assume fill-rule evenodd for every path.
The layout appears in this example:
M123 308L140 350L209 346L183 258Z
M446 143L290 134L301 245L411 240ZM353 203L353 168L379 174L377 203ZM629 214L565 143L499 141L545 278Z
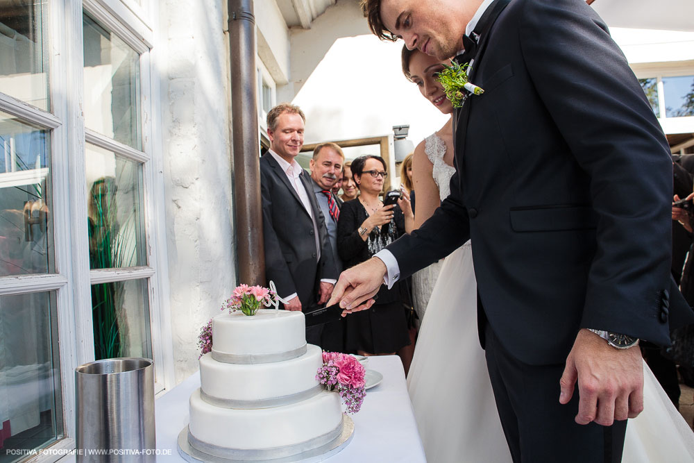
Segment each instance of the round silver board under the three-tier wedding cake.
M186 426L181 430L181 432L178 434L178 453L180 454L181 457L183 457L183 460L190 462L190 463L198 463L198 462L208 462L208 463L251 463L251 462L269 462L269 463L293 463L293 462L302 462L302 463L315 463L315 462L322 462L323 460L326 460L332 455L335 455L336 453L339 453L343 448L345 448L350 441L352 440L352 437L354 435L354 421L346 414L342 414L342 434L335 440L329 442L328 444L325 444L324 446L320 446L318 448L313 448L312 450L309 451L304 451L301 453L298 453L296 455L290 455L289 457L280 457L280 458L255 458L251 460L243 460L243 459L237 459L237 458L224 458L224 457L218 457L215 455L209 455L208 453L204 453L202 451L199 451L197 448L194 448L189 444L188 441L188 427Z

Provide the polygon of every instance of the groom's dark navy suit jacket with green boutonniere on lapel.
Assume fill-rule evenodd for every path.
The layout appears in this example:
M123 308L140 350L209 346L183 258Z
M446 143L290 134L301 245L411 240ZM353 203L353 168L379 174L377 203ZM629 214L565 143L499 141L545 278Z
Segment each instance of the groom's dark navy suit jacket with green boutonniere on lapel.
M669 344L668 322L694 321L670 278L670 150L602 19L513 0L471 81L450 197L388 248L400 278L469 238L484 313L523 362L564 362L579 328Z

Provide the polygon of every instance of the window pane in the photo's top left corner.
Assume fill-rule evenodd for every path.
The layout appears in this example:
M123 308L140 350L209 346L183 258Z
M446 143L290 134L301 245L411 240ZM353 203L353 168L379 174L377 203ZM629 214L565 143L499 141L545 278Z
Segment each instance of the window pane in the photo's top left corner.
M50 110L47 0L0 2L0 92Z

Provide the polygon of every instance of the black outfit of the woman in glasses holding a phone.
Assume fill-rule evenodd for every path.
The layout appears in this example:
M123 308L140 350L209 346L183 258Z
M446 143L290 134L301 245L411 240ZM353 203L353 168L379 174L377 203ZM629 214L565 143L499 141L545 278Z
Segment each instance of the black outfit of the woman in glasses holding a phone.
M373 228L368 239L359 236L358 228L369 217L359 201L347 201L340 209L337 222L337 252L345 268L353 267L384 249L405 233L403 211L393 209L393 219L387 232ZM378 298L369 310L355 312L346 317L346 348L348 351L368 353L393 353L409 344L407 320L403 307L412 305L407 294L407 285L397 282L391 289L382 286Z

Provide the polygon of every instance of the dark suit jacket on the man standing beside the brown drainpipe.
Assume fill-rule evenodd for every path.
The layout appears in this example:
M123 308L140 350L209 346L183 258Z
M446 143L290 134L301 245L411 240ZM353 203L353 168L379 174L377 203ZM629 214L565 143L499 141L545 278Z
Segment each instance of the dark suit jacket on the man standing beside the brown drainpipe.
M275 282L280 297L296 292L301 310L306 312L317 306L319 280L336 279L338 273L311 178L305 171L299 178L316 218L320 260L317 259L313 222L287 175L269 152L260 158L266 278Z

